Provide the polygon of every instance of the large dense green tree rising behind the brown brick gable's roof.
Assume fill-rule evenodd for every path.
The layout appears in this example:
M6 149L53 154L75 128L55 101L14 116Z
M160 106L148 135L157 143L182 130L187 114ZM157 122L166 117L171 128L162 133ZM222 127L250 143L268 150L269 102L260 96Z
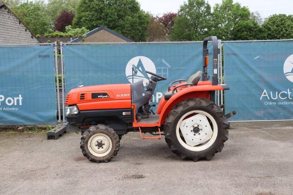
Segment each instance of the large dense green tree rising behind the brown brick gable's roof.
M150 16L136 0L80 0L74 28L105 26L133 41L146 41Z

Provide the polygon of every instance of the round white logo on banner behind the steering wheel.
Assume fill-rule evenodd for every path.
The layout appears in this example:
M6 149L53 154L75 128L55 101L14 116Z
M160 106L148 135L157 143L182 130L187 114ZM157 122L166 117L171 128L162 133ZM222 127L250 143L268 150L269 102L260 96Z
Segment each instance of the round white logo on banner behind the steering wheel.
M149 82L150 74L147 74L145 71L150 71L156 73L156 66L151 59L145 56L137 56L132 58L126 65L125 74L126 78L130 83L132 83L132 65L134 65L137 69L137 73L133 73L133 82L137 82L139 80L143 80L144 86L147 86Z

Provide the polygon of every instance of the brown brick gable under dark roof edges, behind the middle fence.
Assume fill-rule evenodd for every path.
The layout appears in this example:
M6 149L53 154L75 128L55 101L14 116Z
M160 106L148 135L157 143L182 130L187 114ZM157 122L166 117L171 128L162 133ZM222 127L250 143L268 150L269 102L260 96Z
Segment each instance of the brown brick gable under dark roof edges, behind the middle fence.
M82 42L82 41L80 40L79 42ZM112 33L109 33L106 30L100 30L92 34L91 36L86 37L84 42L91 43L91 42L127 42L127 41L113 35Z

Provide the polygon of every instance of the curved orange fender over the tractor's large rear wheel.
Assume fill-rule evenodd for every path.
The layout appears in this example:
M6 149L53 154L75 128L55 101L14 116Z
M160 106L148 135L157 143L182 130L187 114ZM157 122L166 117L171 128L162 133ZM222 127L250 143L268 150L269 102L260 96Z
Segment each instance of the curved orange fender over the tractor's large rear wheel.
M167 102L165 102L165 105L161 109L160 117L159 117L159 126L162 124L165 124L165 119L167 115L173 109L173 107L179 102L182 102L188 98L210 99L210 91L225 90L225 89L229 89L227 85L225 85L224 88L222 87L222 85L197 85L197 86L184 88L178 91ZM161 103L163 104L164 102L161 102L161 101L160 101L160 104Z

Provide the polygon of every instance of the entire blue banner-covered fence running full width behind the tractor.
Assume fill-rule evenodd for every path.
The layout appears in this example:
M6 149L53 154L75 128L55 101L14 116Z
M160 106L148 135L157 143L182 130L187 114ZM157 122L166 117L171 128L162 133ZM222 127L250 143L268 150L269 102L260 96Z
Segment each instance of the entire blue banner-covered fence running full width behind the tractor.
M224 103L226 113L237 111L230 120L292 120L293 41L222 44L224 76L220 52L219 82L229 85L230 90L224 91L224 97L217 93L217 104ZM145 70L168 78L158 82L152 98L156 105L171 81L188 79L202 70L202 42L61 42L61 61L58 63L55 58L55 65L53 45L0 46L0 125L57 124L57 105L60 123L58 101L64 102L70 89L79 85L132 83L132 64L138 69L134 82L143 79L146 84L149 75ZM54 48L57 55L56 43ZM62 88L57 88L58 95L62 90L61 100L56 100L56 69L62 75ZM212 74L211 66L208 73Z

